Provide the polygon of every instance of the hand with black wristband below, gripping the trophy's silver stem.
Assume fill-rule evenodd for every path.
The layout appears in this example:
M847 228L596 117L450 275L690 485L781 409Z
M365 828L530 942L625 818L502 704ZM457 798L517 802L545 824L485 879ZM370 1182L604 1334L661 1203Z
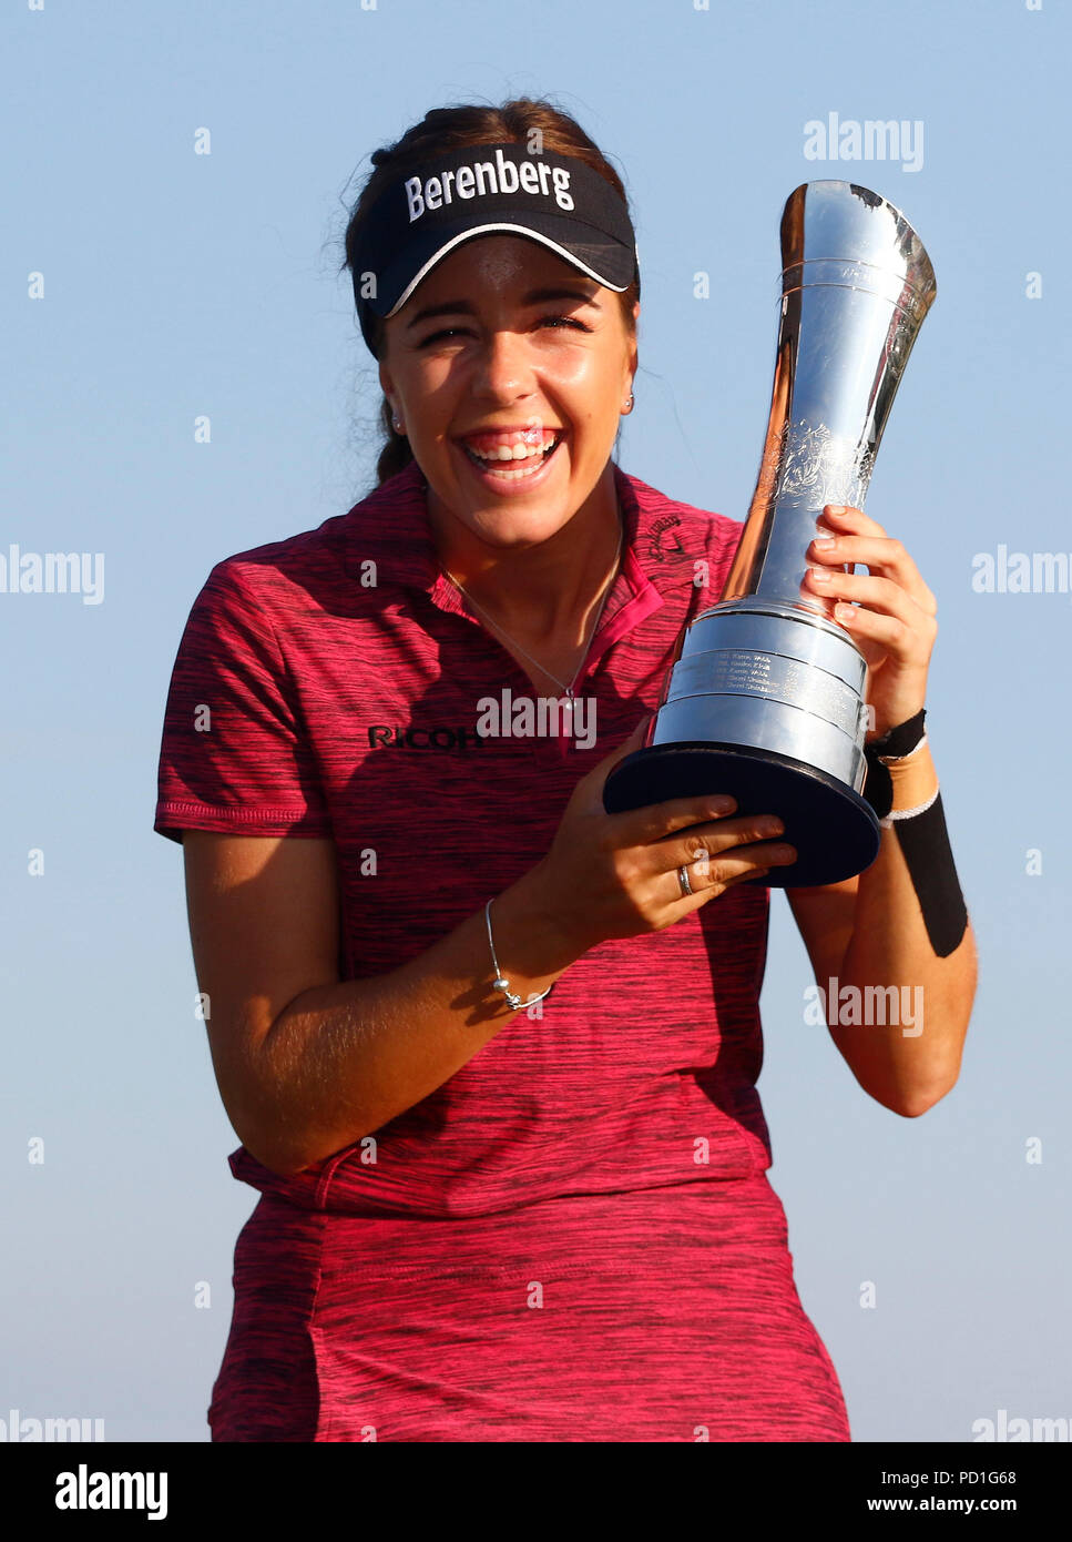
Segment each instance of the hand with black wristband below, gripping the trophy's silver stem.
M833 620L867 660L867 706L873 711L867 739L876 739L926 705L938 601L904 546L861 509L829 503L818 523L835 540L826 547L816 541L809 546L810 566L801 592L841 601L833 608ZM859 563L867 574L843 572L843 563ZM813 567L827 577L816 578Z

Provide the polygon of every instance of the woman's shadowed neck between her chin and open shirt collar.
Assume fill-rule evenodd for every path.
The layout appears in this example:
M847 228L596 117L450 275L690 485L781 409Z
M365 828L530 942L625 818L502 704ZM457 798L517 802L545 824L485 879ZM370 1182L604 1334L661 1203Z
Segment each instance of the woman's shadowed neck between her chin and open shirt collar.
M459 588L513 637L576 643L604 601L624 538L613 466L578 512L547 540L504 549L482 541L428 489L439 560Z

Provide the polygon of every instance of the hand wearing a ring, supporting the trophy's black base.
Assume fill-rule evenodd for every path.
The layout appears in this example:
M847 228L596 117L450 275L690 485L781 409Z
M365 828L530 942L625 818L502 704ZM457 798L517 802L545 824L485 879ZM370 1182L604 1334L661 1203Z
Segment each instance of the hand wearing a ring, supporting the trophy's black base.
M676 797L608 814L604 782L642 748L647 723L578 782L547 856L530 874L544 914L576 956L610 938L662 931L733 884L796 860L793 847L776 839L782 825L775 814L730 817L732 797ZM678 884L682 865L693 888L687 896Z

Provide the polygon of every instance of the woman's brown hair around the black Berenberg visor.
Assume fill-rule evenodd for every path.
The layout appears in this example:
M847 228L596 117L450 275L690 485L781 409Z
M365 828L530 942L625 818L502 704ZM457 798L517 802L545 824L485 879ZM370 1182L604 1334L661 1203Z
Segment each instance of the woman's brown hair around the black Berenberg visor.
M593 171L605 177L628 204L621 177L604 157L599 146L588 139L581 125L568 113L559 111L547 99L533 100L530 97L518 97L513 102L504 102L501 106L479 106L476 103L437 106L425 113L424 119L414 123L413 128L408 128L394 145L384 145L373 151L371 162L374 170L370 173L357 202L350 211L345 234L347 256L339 271L342 273L343 268L348 268L353 278L357 241L371 205L387 187L404 177L413 165L450 150L462 150L467 145L496 142L528 143L531 130L541 131L544 148L554 154L576 156L579 160L584 160ZM633 304L639 296L641 279L638 274L633 284L618 296L628 332L633 332ZM382 358L384 322L377 316L373 318L373 328L376 358L379 359ZM387 439L376 461L376 486L380 486L413 461L410 441L396 433L391 426L391 404L387 396L382 401L379 416Z

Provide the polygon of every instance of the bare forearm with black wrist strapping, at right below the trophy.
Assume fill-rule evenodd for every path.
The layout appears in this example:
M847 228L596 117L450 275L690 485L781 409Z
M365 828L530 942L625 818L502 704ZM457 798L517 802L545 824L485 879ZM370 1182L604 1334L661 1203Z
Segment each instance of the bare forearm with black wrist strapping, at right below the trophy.
M929 760L927 746L921 756ZM935 786L932 762L929 773ZM960 1073L975 982L970 921L938 956L896 830L884 828L879 854L858 880L838 971L841 1005L827 1007L830 1033L859 1084L906 1115L944 1096Z

